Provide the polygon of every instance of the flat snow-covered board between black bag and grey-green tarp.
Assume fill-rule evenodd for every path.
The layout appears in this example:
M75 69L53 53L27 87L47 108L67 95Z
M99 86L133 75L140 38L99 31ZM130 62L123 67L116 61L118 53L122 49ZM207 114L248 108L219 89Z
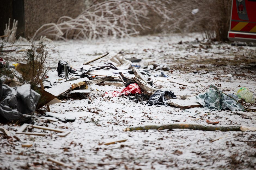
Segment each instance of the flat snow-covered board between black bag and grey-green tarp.
M199 102L193 100L180 100L180 99L170 99L167 100L167 104L175 106L181 109L190 109L194 107L203 107Z

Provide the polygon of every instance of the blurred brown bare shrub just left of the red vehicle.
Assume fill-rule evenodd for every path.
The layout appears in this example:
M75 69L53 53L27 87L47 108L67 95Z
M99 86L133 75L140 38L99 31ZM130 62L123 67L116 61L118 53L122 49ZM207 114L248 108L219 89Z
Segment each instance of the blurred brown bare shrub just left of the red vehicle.
M229 30L232 0L175 0L172 2L172 20L166 30L175 32L202 32L207 39L225 41ZM196 14L193 9L198 8Z

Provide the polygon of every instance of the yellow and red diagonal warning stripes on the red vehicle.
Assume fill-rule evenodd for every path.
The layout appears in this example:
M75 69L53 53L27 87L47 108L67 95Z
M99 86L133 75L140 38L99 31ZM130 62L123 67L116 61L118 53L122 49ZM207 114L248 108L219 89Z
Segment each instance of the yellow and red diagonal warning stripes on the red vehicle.
M256 32L256 23L231 21L231 31Z

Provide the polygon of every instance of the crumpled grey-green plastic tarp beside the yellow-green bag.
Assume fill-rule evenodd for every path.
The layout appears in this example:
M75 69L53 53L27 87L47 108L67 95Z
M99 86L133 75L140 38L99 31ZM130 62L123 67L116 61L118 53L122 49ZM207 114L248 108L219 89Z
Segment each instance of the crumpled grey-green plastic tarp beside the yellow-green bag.
M232 93L228 93L227 95L238 100L237 95ZM199 94L196 96L196 100L203 105L203 107L207 107L209 109L230 109L231 111L244 111L244 108L240 103L237 104L234 99L228 97L227 95L223 94L217 86L211 84L210 88L205 94Z

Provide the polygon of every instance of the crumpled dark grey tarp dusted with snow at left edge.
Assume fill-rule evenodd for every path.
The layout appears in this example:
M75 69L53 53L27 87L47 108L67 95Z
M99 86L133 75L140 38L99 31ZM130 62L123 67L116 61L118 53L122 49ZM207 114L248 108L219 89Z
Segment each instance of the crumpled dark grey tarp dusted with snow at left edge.
M27 114L35 111L39 99L40 94L32 90L30 84L12 88L0 80L0 115L8 121L31 120Z

